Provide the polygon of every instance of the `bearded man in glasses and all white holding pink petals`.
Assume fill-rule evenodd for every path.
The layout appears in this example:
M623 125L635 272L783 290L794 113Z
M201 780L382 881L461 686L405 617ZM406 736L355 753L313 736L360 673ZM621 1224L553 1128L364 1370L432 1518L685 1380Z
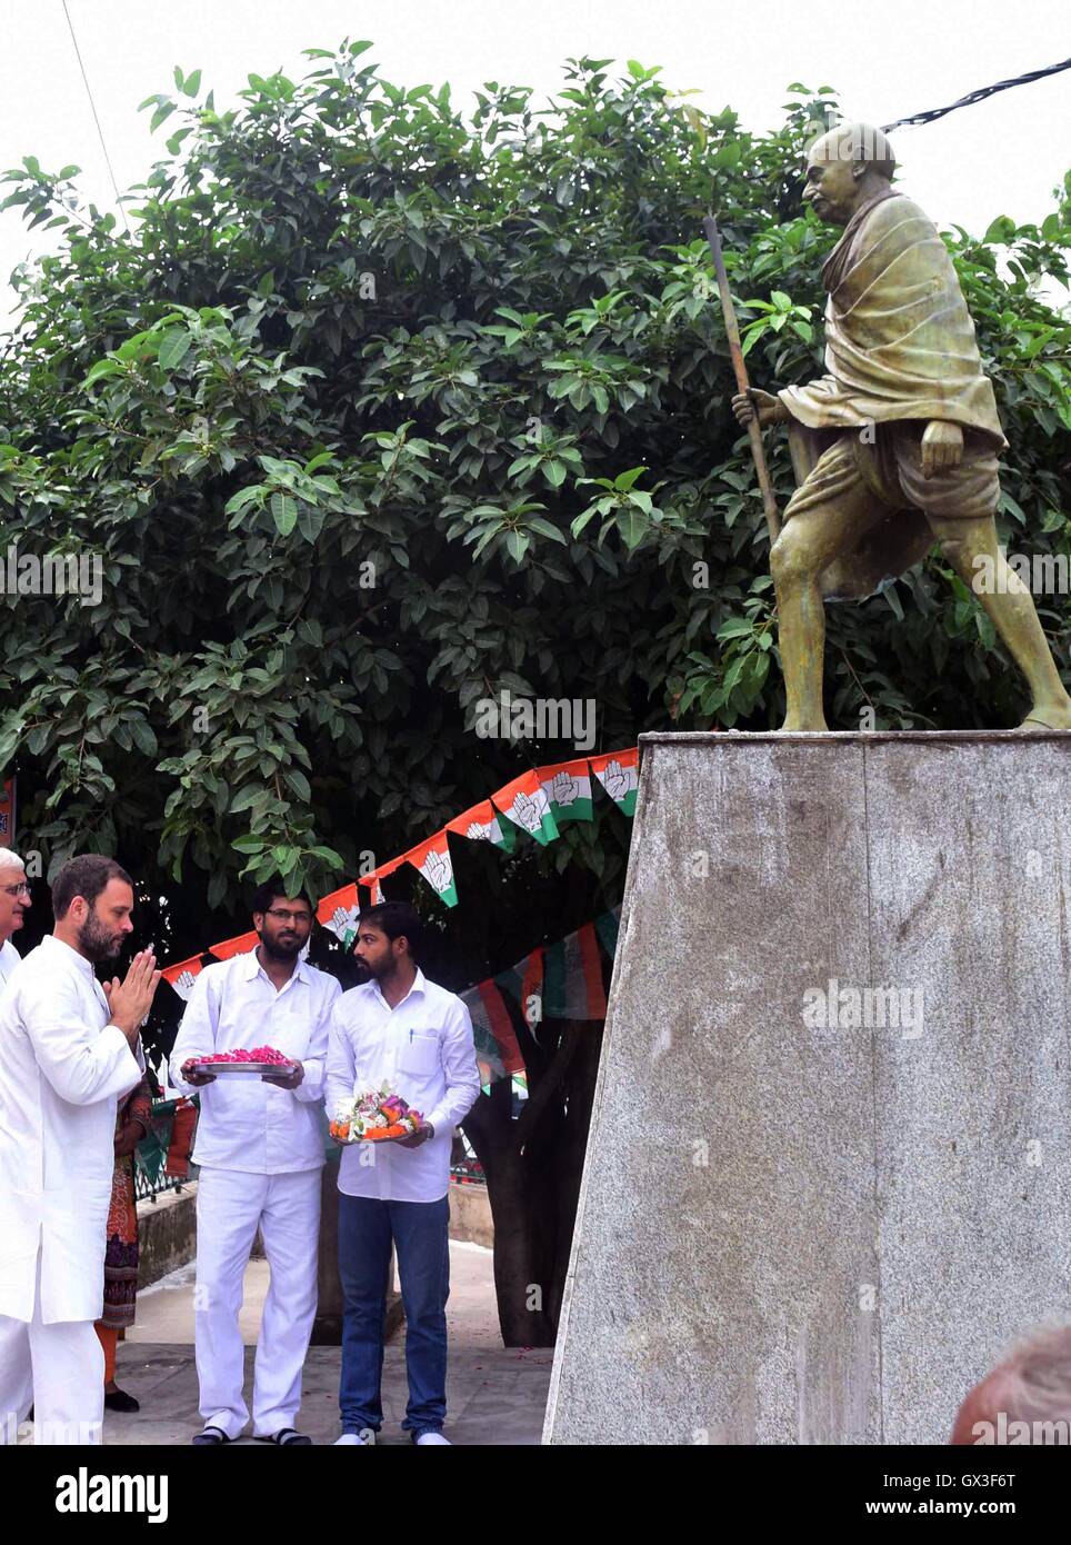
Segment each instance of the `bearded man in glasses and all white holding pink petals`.
M312 902L282 879L253 898L259 944L207 966L187 1003L171 1052L171 1083L201 1092L193 1159L198 1180L194 1358L208 1446L231 1443L248 1421L238 1329L245 1262L259 1227L270 1285L256 1344L253 1437L289 1448L301 1369L316 1315L321 1119L327 1020L340 986L301 959ZM272 1046L293 1061L287 1075L216 1078L193 1065L215 1052Z

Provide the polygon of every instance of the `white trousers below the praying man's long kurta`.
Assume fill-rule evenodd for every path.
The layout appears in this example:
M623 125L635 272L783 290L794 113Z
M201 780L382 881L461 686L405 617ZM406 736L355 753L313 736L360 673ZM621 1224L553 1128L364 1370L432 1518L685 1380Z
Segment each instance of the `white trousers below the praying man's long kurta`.
M34 1407L34 1443L100 1443L103 1349L91 1319L42 1324L40 1250L34 1318L0 1315L0 1446Z

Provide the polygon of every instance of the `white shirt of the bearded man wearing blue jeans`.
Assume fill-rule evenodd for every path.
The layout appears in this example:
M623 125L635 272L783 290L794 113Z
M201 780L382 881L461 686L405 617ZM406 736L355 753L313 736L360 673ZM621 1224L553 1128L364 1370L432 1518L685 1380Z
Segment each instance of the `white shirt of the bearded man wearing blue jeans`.
M406 997L392 1009L378 983L369 981L341 995L329 1034L329 1117L356 1094L387 1085L435 1128L435 1136L420 1148L347 1145L338 1190L383 1202L437 1202L446 1196L454 1126L480 1094L472 1020L461 1000L418 970Z

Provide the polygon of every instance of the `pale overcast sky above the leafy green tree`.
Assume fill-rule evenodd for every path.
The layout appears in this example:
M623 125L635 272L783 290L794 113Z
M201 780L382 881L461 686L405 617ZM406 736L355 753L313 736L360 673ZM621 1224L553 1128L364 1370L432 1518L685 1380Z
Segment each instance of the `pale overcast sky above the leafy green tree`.
M46 170L76 162L80 185L102 209L111 182L79 71L62 0L0 0L0 168L35 154ZM120 190L164 154L170 125L148 131L137 105L173 91L173 66L201 68L216 107L235 102L250 71L313 65L304 48L372 39L366 62L414 87L449 80L455 105L485 80L562 85L568 56L662 65L674 90L731 105L748 128L781 122L793 80L833 87L847 116L887 124L943 107L977 87L1071 56L1066 0L68 0L105 144ZM900 185L940 224L981 233L995 215L1040 221L1071 162L1071 71L1002 93L937 124L894 136ZM48 236L26 232L17 210L0 215L0 314L6 278Z

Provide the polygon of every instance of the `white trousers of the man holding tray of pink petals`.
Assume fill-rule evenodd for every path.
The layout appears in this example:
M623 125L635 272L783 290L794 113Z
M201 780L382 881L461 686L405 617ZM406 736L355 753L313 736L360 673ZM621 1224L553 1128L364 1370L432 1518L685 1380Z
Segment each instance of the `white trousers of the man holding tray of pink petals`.
M256 1341L253 1435L272 1437L293 1426L301 1404L301 1369L316 1316L319 1170L247 1174L201 1168L193 1298L201 1415L228 1438L239 1437L248 1421L238 1312L258 1225L270 1282Z

